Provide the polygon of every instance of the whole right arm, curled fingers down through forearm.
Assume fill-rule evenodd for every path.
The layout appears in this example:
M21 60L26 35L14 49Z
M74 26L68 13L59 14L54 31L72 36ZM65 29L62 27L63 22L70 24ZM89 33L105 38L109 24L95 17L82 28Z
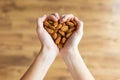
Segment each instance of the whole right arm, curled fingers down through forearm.
M78 44L83 35L83 22L78 20L72 14L62 16L60 22L65 22L67 19L74 19L77 22L77 30L67 40L64 47L61 48L61 55L74 80L95 80L78 50Z

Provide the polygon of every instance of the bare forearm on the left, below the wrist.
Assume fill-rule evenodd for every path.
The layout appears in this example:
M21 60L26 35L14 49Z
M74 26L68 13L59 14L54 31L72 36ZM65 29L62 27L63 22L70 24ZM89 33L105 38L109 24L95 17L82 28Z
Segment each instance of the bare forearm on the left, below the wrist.
M42 48L39 55L21 80L43 80L56 56L57 53L46 47Z

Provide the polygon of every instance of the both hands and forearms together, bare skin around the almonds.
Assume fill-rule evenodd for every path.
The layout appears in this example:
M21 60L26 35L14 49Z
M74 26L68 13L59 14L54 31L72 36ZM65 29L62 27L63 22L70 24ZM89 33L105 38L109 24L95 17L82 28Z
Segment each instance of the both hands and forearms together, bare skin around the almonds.
M78 23L77 30L60 50L54 43L52 37L43 27L43 22L46 18L54 21L60 20L61 23L67 19L74 19ZM59 52L68 66L74 80L94 80L94 77L86 67L78 50L78 44L83 35L82 21L78 20L72 14L61 17L58 13L54 13L49 16L44 15L38 19L37 33L39 40L42 43L42 48L34 62L20 80L43 80L50 65L53 63Z

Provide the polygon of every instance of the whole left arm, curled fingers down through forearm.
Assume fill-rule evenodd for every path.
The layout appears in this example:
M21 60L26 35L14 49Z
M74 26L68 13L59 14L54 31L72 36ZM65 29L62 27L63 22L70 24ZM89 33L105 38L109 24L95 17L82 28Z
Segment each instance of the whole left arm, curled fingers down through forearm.
M35 58L29 69L20 80L43 80L49 67L57 56L59 49L49 33L43 27L45 19L58 21L59 16L57 13L54 13L49 16L44 15L38 19L37 33L42 43L42 48L39 55Z

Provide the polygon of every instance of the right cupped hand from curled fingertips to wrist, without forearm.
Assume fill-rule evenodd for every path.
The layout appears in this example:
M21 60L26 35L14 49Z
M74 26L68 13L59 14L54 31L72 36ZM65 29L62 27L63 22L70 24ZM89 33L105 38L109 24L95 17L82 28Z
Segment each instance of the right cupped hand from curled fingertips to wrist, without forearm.
M72 34L72 36L65 43L64 47L60 50L61 53L64 53L71 48L77 48L83 36L83 22L78 20L78 18L74 17L72 14L62 16L60 22L65 22L67 19L74 19L77 22L77 30Z

